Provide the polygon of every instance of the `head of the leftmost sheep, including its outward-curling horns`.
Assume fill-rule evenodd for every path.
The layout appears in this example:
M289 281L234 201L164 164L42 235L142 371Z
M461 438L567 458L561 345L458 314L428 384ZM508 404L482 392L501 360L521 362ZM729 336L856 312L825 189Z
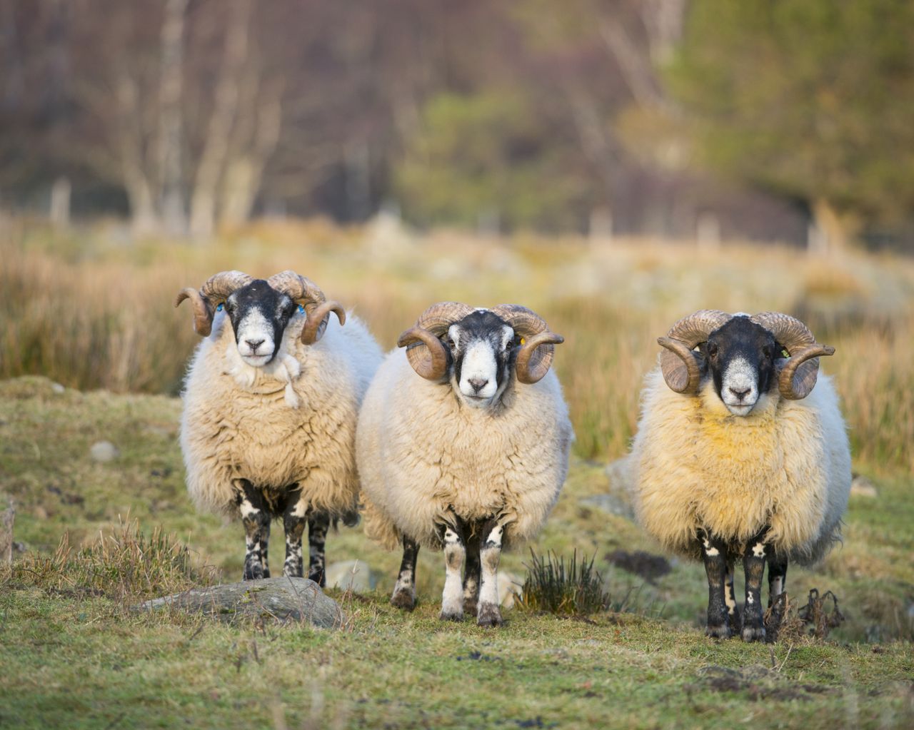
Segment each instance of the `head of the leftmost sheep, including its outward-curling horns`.
M305 317L301 339L314 344L324 334L330 312L340 324L345 312L338 302L327 302L313 281L294 271L282 271L270 279L253 279L241 271L222 271L200 287L185 289L175 307L189 299L194 306L194 329L206 337L216 312L228 315L241 358L254 367L271 363L282 343L282 333L297 314Z

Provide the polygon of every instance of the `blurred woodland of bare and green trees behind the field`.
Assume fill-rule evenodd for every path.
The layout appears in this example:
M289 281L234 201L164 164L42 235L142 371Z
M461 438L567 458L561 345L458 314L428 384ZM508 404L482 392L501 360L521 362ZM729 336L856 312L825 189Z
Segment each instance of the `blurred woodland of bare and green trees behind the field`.
M0 210L914 248L905 0L0 0Z

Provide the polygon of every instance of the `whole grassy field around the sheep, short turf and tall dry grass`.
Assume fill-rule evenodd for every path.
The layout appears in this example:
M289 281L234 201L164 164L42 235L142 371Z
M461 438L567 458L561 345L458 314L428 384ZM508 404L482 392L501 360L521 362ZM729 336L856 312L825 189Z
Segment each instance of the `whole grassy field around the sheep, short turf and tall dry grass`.
M0 492L16 500L16 540L27 547L0 573L0 726L914 724L911 262L655 241L419 239L319 223L198 248L22 227L7 232L0 257L0 376L12 378L0 381ZM359 557L377 577L365 595L332 592L349 616L344 630L128 611L240 575L239 525L195 513L186 497L174 397L196 335L172 299L228 268L299 270L355 306L386 347L440 299L542 313L567 337L556 366L578 441L533 547L595 555L616 610L585 620L515 608L503 629L442 625L441 556L423 553L420 608L404 616L387 603L398 556L342 528L328 559ZM649 580L609 559L657 552L606 467L631 438L656 336L705 306L797 313L838 348L824 369L845 401L855 469L875 494L852 496L843 547L788 577L795 606L811 588L840 599L845 623L826 640L799 630L773 647L708 640L700 566L673 561ZM90 458L101 439L118 447L116 460ZM600 506L608 493L618 509ZM149 562L147 543L131 560L148 580L128 575L134 563L118 562L112 537L125 521L147 536L175 534L193 569ZM55 563L63 534L71 560ZM79 548L92 545L102 557L89 563ZM505 555L503 566L522 577L526 562Z

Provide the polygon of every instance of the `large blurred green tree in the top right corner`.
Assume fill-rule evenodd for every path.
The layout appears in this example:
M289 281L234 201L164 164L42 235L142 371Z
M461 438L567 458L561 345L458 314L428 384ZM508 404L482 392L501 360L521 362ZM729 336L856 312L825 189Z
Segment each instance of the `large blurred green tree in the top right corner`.
M668 79L708 165L806 201L813 245L914 209L914 3L693 0Z

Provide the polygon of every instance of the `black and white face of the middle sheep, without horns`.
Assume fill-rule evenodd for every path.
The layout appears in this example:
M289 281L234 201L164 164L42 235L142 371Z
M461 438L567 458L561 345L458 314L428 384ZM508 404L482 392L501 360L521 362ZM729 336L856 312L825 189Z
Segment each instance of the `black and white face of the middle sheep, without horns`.
M508 383L514 330L492 312L473 312L448 329L451 383L458 397L472 407L497 402Z

